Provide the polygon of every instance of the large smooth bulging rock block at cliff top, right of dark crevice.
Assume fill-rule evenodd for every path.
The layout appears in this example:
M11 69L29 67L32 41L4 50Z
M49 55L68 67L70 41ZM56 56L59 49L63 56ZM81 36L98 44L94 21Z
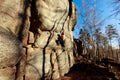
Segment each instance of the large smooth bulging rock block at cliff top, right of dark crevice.
M55 29L60 31L67 18L69 10L68 0L37 0L36 2L40 29L43 31Z

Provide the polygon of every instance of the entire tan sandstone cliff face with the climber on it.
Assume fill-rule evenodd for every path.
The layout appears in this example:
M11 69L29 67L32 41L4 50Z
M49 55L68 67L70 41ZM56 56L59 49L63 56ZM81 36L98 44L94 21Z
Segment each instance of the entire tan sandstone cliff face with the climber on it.
M0 41L4 41L1 36L8 36L8 42L13 42L9 47L7 43L5 44L7 50L11 51L11 48L15 47L11 53L5 52L5 48L0 48L0 55L4 51L4 54L12 56L9 64L1 62L0 65L3 65L5 70L14 69L6 74L7 78L4 79L4 75L3 77L0 75L0 79L55 80L64 76L74 64L72 36L76 23L74 3L71 0L2 0L0 4L0 15L2 15ZM1 33L2 31L6 32ZM58 34L61 35L62 32L65 35L64 48L56 43ZM19 40L23 46L22 50ZM0 43L0 47L1 45ZM22 58L15 67L21 51ZM5 60L1 58L1 61Z

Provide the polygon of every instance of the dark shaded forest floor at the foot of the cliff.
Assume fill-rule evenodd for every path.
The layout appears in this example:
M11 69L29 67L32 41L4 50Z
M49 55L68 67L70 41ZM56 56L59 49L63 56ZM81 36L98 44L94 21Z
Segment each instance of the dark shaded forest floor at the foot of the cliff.
M95 63L75 57L75 64L62 80L120 80L120 64L109 59Z

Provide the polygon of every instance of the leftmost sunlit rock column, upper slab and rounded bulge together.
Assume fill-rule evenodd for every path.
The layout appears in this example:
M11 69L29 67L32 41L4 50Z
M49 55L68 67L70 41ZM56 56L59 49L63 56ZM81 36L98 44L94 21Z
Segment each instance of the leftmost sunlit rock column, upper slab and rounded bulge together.
M0 80L16 77L16 64L22 56L22 45L17 38L22 13L21 0L0 0Z

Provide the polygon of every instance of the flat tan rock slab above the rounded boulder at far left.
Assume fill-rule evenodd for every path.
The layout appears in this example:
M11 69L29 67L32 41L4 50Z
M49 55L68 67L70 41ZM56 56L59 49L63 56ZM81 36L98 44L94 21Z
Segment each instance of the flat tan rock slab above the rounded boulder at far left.
M22 5L21 5L22 4ZM23 12L23 1L1 0L0 1L0 26L13 33L20 29L21 14Z

